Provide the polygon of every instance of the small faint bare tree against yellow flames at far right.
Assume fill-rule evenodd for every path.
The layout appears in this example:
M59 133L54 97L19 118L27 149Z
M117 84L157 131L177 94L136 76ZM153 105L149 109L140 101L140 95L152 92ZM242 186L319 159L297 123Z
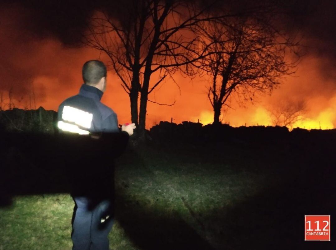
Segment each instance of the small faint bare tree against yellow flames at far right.
M290 129L294 123L303 120L303 115L307 111L304 100L293 101L289 98L283 99L272 108L267 108L274 126L286 126Z

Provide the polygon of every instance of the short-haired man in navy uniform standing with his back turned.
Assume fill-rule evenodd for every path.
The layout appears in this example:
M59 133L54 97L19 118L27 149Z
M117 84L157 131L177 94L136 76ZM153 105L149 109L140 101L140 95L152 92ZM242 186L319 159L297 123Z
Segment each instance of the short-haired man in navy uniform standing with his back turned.
M100 102L106 90L107 76L107 69L101 61L87 61L82 75L84 84L79 94L67 98L58 108L57 125L61 134L80 135L69 140L69 143L76 141L74 147L73 144L68 145L75 148L77 159L81 159L79 162L69 161L73 163L71 196L75 201L71 238L74 250L108 250L108 234L113 225L114 170L111 169L113 166L109 168L110 164L102 162L108 150L101 149L110 147L106 141L114 143L111 148L126 145L136 126L131 123L119 129L116 113ZM111 137L111 134L117 136ZM83 138L89 138L91 144L84 143L83 146ZM121 140L123 143L120 143ZM88 149L81 150L83 147ZM84 152L90 152L89 156Z

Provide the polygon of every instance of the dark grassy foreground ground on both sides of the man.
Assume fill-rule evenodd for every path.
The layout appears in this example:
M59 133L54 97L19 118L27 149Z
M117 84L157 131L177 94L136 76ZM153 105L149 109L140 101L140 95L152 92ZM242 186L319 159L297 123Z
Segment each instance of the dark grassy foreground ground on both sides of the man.
M27 138L2 149L0 249L71 249L66 168L48 140ZM335 142L129 144L115 160L110 248L336 249L333 233L304 241L304 215L334 224Z

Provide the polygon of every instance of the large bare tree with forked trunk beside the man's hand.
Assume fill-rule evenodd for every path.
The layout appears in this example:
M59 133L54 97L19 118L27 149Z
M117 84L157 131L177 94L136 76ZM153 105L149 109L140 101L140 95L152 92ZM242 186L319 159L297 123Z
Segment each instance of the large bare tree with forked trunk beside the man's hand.
M176 71L194 76L191 63L209 53L211 42L200 49L194 27L229 15L209 15L211 6L180 0L125 0L92 17L84 42L109 56L110 66L130 97L131 118L139 125L140 137L144 135L147 101L161 104L148 99L149 94Z

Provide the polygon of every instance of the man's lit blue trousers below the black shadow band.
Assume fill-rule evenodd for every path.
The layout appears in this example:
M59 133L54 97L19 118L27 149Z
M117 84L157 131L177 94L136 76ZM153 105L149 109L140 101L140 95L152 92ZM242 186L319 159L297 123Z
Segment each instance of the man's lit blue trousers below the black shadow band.
M109 249L108 235L112 229L113 200L73 196L73 250Z

